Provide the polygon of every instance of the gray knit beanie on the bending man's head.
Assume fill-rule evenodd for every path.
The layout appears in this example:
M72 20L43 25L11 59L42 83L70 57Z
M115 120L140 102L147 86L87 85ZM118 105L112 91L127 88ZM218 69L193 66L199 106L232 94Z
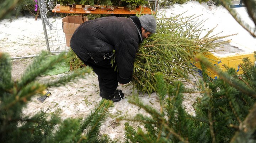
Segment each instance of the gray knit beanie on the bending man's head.
M151 33L156 33L156 21L153 15L143 15L139 17L142 27Z

